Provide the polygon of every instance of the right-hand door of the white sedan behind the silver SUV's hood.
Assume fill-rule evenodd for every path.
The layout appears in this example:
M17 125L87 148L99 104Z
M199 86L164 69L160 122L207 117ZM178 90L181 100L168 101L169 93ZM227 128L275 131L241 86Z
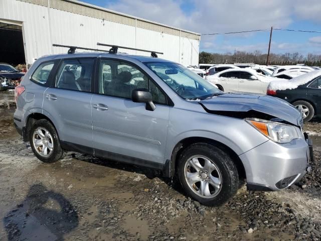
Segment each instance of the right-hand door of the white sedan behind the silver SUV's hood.
M252 74L249 72L240 71L239 91L265 94L266 88L265 88L265 91L263 92L261 81L258 79L255 79L255 80L251 79L251 76Z

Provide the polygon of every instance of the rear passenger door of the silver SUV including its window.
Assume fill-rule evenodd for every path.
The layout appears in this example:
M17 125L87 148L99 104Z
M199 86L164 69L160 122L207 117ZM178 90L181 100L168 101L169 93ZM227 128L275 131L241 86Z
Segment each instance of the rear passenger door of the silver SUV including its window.
M93 148L91 83L94 62L94 58L62 60L52 87L44 93L43 110L55 119L59 138L66 144Z

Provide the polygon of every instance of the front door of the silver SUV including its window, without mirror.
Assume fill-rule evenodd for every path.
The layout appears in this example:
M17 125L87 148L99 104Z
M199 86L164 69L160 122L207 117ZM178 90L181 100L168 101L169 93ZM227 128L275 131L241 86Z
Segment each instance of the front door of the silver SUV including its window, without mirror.
M131 100L135 88L152 93L156 105L153 111ZM163 164L169 108L166 95L138 67L118 60L101 60L99 87L92 98L95 154L111 158L118 154L126 160Z

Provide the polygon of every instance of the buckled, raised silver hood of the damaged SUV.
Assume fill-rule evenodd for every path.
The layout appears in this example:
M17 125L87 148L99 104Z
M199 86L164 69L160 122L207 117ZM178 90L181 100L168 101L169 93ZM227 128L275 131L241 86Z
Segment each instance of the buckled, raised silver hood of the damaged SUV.
M249 93L225 93L210 99L201 100L205 108L211 111L259 111L296 126L300 126L301 113L288 102L268 95Z

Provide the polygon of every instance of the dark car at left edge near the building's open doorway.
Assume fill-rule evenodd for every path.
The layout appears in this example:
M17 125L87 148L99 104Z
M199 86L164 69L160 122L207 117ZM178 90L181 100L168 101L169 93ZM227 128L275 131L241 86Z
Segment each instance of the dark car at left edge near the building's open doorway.
M10 64L0 63L0 83L2 88L15 88L19 85L25 73L15 69Z

